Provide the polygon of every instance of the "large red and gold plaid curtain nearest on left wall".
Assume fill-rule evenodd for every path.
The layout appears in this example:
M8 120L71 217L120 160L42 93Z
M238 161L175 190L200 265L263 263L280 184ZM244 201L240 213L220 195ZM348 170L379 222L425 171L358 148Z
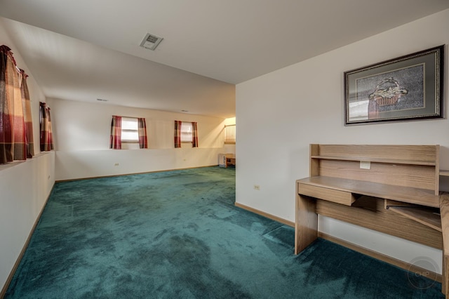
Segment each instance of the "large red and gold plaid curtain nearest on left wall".
M0 46L0 164L26 160L34 154L26 78L15 64L11 48Z

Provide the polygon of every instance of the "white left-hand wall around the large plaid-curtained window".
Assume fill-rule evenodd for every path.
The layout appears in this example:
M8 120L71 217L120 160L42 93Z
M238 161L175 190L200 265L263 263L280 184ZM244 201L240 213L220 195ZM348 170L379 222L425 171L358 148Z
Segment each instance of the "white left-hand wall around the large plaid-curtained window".
M6 283L55 182L55 154L39 153L39 101L44 102L45 98L0 19L0 45L3 44L13 51L18 67L29 74L36 156L0 165L0 288Z

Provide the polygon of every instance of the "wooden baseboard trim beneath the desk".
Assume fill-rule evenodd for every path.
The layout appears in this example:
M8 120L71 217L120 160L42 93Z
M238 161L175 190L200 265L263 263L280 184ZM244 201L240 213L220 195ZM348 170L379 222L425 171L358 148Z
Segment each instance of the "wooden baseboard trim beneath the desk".
M358 253L362 253L364 255L368 255L371 258L375 258L377 260L382 260L385 263L389 263L389 264L394 265L396 267L402 268L403 270L407 270L407 271L415 272L415 273L429 273L429 275L427 275L427 278L433 279L433 280L438 281L438 282L443 281L443 277L441 276L441 274L438 274L438 273L435 273L435 272L431 272L429 270L425 270L425 269L423 269L421 267L417 267L417 266L412 265L410 263L403 262L402 260L398 260L396 258L391 258L391 256L384 255L382 253L378 253L377 251L373 251L371 249L368 249L368 248L365 248L365 247L362 247L362 246L358 246L358 245L353 244L351 242L335 238L333 236L330 236L329 234L325 234L323 232L318 232L318 237L320 237L322 239L326 239L328 241L331 241L331 242L333 242L335 244L339 244L341 246L347 247L349 249L352 249L353 251L357 251Z

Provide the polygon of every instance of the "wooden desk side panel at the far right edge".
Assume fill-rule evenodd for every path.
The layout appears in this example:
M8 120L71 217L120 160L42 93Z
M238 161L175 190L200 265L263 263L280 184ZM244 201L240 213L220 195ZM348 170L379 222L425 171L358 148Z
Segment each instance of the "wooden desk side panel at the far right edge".
M442 290L449 298L449 194L440 195L441 231L443 234L443 278Z

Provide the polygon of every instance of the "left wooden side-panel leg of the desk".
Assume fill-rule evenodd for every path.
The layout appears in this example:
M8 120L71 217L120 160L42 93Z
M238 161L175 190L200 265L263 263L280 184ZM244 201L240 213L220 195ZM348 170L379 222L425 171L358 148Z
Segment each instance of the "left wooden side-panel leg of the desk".
M318 237L316 199L296 195L295 254L300 253Z

